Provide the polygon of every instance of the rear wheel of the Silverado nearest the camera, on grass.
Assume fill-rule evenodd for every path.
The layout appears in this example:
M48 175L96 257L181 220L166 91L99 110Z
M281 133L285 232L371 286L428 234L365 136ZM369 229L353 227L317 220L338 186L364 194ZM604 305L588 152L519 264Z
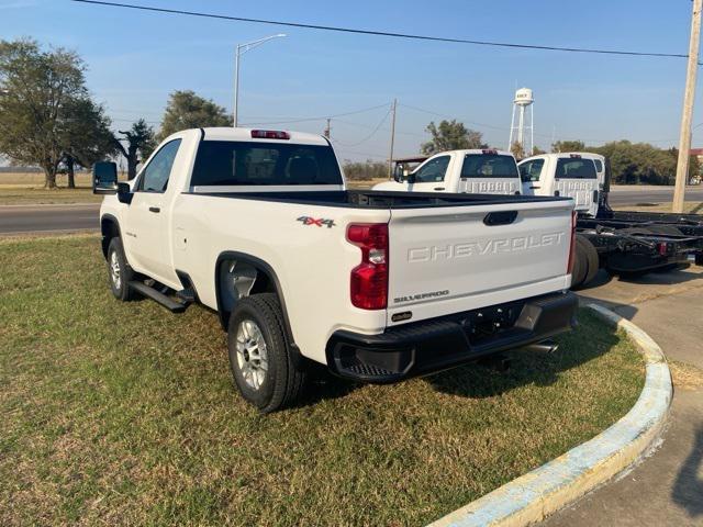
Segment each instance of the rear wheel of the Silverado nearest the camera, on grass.
M294 405L308 378L305 366L292 356L284 327L283 313L274 293L247 296L237 302L230 315L227 348L232 377L244 400L263 413ZM266 369L261 368L257 330L266 345Z

